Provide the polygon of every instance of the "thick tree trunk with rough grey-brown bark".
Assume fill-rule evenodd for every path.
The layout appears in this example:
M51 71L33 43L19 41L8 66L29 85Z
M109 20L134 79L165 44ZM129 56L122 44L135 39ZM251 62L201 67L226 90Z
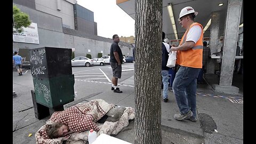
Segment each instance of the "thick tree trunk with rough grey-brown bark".
M162 143L162 0L135 0L135 141Z

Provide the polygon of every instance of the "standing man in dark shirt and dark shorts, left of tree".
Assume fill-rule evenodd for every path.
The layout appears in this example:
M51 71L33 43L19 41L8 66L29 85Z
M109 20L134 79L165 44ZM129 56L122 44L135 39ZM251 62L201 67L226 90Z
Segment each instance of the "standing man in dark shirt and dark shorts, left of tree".
M118 78L121 78L121 75L122 75L122 63L123 63L123 53L118 45L119 41L120 39L118 35L113 35L113 43L110 46L109 63L113 71L111 90L114 90L114 92L117 92L117 93L122 93L123 91L120 91L119 87L117 86Z

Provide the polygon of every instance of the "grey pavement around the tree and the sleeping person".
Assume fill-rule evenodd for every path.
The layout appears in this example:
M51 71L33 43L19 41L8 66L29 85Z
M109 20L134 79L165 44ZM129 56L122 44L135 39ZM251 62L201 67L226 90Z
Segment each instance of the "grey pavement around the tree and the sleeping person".
M17 73L13 72L13 79ZM13 81L13 90L17 97L13 98L13 143L36 143L35 132L45 124L47 119L35 118L30 90L34 90L31 74L19 77L22 81ZM85 89L87 86L97 87L95 82L75 80L77 97L65 107L85 100L103 99L108 103L134 108L133 76L120 82L123 93L110 90L110 83L103 83L100 89ZM104 90L104 91L102 91ZM243 100L241 95L216 93L207 85L198 85L197 116L199 121L177 121L173 118L179 113L173 92L169 91L169 101L162 101L162 140L163 143L243 143L243 104L234 103ZM32 133L32 137L28 134ZM117 135L112 135L127 142L134 143L134 120Z

